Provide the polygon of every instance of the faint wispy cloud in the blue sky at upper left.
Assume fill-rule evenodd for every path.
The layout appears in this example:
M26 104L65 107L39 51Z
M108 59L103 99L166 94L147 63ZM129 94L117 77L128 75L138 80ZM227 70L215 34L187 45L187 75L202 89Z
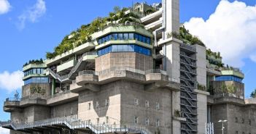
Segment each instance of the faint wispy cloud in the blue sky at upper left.
M18 28L22 30L25 28L26 22L37 22L46 12L44 0L37 0L36 4L28 8L23 14L18 17Z

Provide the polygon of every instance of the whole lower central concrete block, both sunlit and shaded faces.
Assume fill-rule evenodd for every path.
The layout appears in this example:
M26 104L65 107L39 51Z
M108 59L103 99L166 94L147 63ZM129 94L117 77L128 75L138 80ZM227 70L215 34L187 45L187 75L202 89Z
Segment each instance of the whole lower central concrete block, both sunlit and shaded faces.
M156 120L160 120L160 132L171 133L171 92L166 88L152 89L148 91L145 85L128 80L117 80L106 85L101 85L101 90L93 92L84 90L79 92L78 117L82 120L90 120L93 124L134 124L134 117L138 117L138 125L148 127L152 133L156 130ZM109 106L106 106L109 99ZM138 99L139 105L134 104ZM96 103L98 101L99 106ZM150 106L146 106L149 101ZM90 109L89 109L90 103ZM156 108L160 104L160 109ZM145 124L146 119L150 125ZM180 132L180 125L175 125Z

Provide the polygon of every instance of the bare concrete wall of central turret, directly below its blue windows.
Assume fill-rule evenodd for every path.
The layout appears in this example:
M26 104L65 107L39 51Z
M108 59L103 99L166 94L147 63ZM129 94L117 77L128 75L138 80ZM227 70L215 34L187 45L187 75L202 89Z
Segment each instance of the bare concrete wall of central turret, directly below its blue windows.
M131 67L138 70L152 70L152 56L135 52L109 53L96 58L96 71L102 71L111 67Z

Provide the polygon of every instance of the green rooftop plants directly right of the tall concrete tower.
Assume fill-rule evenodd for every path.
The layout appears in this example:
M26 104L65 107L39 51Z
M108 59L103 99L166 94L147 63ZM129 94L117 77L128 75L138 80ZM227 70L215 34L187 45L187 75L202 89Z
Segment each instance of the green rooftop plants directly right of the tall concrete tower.
M181 41L183 41L183 43L185 44L191 44L191 45L201 45L201 46L205 46L205 44L203 43L203 41L201 41L198 37L191 35L190 31L187 30L184 26L179 28L179 33L176 32L172 32L172 33L168 33L167 38L177 38Z

